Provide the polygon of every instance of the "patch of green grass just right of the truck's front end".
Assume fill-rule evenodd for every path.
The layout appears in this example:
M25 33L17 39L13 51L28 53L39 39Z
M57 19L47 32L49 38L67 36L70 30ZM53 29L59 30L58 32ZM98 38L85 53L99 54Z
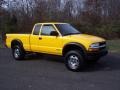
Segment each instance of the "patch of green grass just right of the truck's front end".
M120 39L119 40L108 40L107 41L109 51L120 53Z

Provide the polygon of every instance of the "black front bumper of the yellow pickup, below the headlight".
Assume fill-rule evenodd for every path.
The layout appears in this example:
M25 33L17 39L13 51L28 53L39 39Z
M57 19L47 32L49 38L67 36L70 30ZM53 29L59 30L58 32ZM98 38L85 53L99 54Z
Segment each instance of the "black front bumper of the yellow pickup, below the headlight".
M108 50L100 50L98 52L87 52L87 59L95 59L95 58L100 58L108 54Z

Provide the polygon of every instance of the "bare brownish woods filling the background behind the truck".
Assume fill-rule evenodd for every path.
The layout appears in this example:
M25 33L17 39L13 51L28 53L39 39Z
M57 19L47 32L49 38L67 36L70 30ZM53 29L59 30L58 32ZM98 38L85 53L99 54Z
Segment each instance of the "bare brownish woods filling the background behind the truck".
M120 0L0 0L0 33L31 32L38 22L67 22L82 33L120 38Z

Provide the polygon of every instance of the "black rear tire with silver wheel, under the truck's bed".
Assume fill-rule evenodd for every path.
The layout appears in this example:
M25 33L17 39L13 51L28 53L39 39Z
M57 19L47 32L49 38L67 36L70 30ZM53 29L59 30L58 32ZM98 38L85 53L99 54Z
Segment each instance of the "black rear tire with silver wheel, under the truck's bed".
M12 55L15 60L22 60L25 57L25 51L20 45L15 45L12 48Z

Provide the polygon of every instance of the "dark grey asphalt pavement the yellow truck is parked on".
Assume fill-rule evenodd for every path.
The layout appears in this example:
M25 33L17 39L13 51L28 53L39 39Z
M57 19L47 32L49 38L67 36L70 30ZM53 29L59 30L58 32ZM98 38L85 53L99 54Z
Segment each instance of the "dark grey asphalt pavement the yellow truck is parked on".
M10 49L0 49L0 90L120 90L120 54L71 72L60 57L28 55L15 61Z

